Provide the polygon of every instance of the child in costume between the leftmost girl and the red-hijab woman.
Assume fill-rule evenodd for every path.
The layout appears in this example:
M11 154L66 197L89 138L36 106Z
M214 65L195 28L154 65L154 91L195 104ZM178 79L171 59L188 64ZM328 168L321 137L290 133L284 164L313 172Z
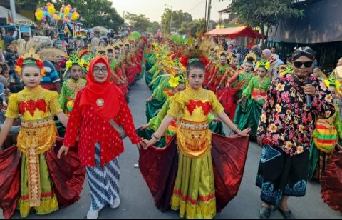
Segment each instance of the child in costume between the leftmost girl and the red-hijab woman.
M80 89L83 89L86 86L86 79L81 78L84 69L86 69L86 62L83 59L80 59L78 54L71 54L68 61L66 61L65 71L65 74L70 71L71 78L63 82L61 94L58 99L66 116L71 114L76 94Z

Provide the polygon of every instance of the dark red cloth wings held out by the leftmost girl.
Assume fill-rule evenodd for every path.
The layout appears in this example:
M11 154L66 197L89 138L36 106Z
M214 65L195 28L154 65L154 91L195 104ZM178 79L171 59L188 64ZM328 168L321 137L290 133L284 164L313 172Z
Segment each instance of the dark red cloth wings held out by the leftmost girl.
M78 159L78 148L69 148L67 156L57 158L63 139L45 153L53 190L60 207L70 206L80 199L86 169ZM6 219L13 216L20 196L21 154L16 146L0 152L0 207Z

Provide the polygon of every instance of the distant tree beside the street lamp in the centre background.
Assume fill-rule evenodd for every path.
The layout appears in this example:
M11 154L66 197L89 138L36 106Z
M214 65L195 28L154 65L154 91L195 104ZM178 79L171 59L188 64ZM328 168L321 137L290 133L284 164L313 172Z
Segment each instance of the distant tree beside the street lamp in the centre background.
M179 11L172 11L171 9L165 9L164 14L162 14L162 31L165 33L170 33L171 29L180 29L182 22L192 21L192 15Z

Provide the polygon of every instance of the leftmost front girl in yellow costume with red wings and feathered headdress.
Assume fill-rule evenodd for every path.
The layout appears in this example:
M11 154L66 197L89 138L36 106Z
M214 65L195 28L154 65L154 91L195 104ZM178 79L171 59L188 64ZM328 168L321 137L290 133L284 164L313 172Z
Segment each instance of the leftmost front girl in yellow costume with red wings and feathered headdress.
M2 145L14 119L21 114L18 146L0 152L0 164L6 167L0 171L0 207L5 218L14 214L16 206L21 217L26 217L31 209L37 214L49 214L59 206L73 204L79 199L85 177L76 152L71 152L72 160L58 163L51 149L56 141L53 115L64 126L68 118L59 106L58 93L39 85L43 61L31 49L18 59L16 72L26 86L9 97L0 134Z

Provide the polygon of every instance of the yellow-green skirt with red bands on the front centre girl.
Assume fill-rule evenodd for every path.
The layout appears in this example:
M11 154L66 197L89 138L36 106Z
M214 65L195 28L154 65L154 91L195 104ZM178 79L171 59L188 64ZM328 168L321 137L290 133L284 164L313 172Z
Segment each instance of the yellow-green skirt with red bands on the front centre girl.
M216 198L211 151L196 159L180 153L171 209L180 210L181 218L214 218Z

